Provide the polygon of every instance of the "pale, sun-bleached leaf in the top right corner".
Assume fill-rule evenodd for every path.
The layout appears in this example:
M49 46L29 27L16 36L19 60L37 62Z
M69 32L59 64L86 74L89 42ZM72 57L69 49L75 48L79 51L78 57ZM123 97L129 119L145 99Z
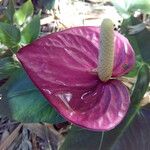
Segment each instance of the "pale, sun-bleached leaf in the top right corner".
M129 18L135 11L140 10L143 13L150 13L149 0L112 0L115 8L124 17Z

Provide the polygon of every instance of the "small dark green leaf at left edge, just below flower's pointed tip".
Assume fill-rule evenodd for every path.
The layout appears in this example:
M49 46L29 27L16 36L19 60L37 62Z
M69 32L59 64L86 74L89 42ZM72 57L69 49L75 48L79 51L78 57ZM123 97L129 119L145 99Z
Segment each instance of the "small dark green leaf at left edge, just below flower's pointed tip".
M0 59L0 80L6 79L19 68L17 62L12 57L5 57Z

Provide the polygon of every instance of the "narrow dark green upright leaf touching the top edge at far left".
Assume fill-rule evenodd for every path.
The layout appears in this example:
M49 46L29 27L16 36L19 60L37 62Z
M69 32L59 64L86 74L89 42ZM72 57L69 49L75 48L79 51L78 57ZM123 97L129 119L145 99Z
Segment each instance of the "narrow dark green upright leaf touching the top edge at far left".
M14 1L9 0L8 6L6 11L4 12L5 16L7 17L9 23L13 23L13 17L15 13Z

